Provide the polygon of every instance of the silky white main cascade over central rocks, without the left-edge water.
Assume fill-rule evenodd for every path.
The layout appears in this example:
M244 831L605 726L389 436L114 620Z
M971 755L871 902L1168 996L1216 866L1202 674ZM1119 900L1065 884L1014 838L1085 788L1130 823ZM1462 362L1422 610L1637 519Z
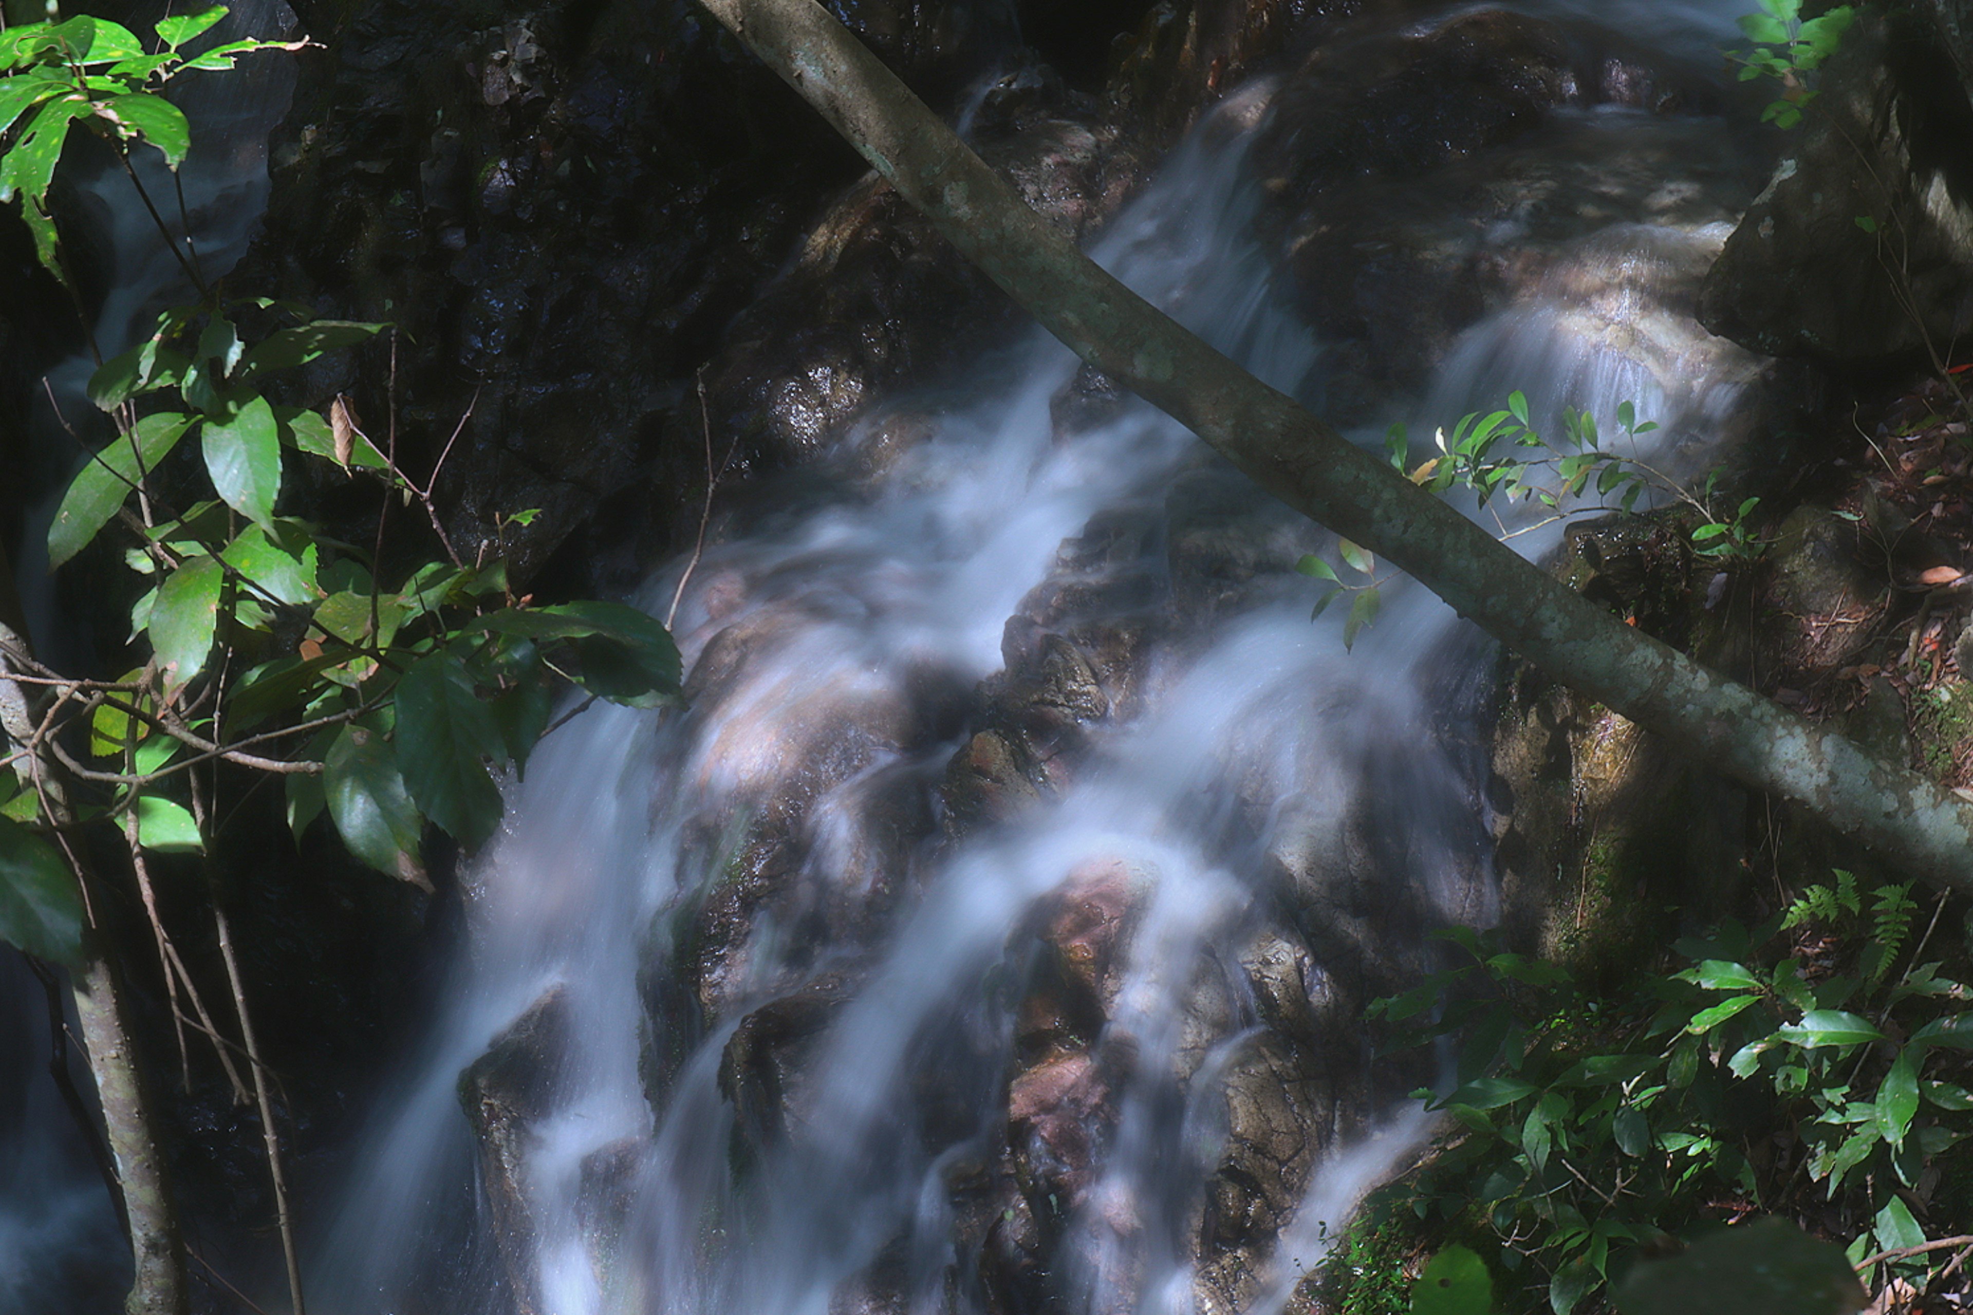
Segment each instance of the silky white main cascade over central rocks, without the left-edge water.
M1630 8L1663 45L1730 32L1728 6ZM1241 173L1265 95L1223 106L1095 254L1294 388L1320 373L1320 345L1275 300ZM1584 130L1608 142L1651 130L1644 114L1592 118ZM1748 363L1667 308L1663 288L1722 237L1586 225L1543 284L1462 339L1425 432L1509 388L1543 416L1572 404L1606 428L1634 400L1663 424L1640 455L1689 465L1717 442ZM328 1309L981 1309L981 1228L961 1214L1010 1102L1060 1118L1097 1088L1109 1114L1093 1167L1042 1207L1056 1212L1054 1301L1089 1315L1202 1309L1209 1276L1192 1238L1231 1136L1223 1082L1273 1007L1241 968L1280 950L1280 873L1320 899L1369 810L1389 832L1391 885L1375 901L1397 925L1492 917L1484 818L1440 726L1444 690L1480 678L1458 670L1476 645L1395 582L1346 653L1338 621L1310 625L1306 582L1282 570L1320 536L1280 519L1261 530L1275 542L1239 603L1158 651L1142 708L1095 731L1060 796L1012 824L902 852L886 842L900 796L937 808L925 800L963 743L937 706L1002 666L1008 617L1061 574L1065 540L1099 515L1156 520L1174 479L1225 479L1138 404L1061 432L1050 408L1075 361L1050 341L981 373L996 382L945 406L874 483L844 479L833 505L706 554L677 627L689 708L596 708L537 753L470 875L472 948L434 1039L318 1250ZM864 440L884 434L874 422ZM1515 542L1539 556L1559 532ZM659 613L677 572L645 597ZM691 936L706 909L752 899L740 854L779 822L799 832L799 869L706 970ZM1127 911L1107 1059L1058 1057L1046 1080L1028 1071L1010 1090L1002 984L1020 972L1024 929L1077 891ZM1302 1009L1336 994L1338 964L1282 962L1300 964ZM766 1136L732 1071L750 1015L777 1002L805 1002L827 1025L783 1074ZM475 1159L460 1073L503 1033L503 1047L525 1037L535 1086L493 1163ZM1423 1132L1415 1114L1342 1098L1322 1110L1308 1159L1320 1149L1324 1167L1298 1169L1302 1209L1249 1258L1247 1309L1280 1309L1298 1268ZM1012 1205L1004 1216L1006 1232L1026 1226Z

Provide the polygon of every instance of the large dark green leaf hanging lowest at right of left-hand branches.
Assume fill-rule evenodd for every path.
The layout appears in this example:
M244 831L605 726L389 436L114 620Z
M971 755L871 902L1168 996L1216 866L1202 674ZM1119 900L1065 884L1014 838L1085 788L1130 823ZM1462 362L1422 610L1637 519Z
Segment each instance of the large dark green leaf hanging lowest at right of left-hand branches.
M483 757L505 759L493 712L450 653L420 658L397 686L397 761L432 822L466 848L499 826L501 798Z

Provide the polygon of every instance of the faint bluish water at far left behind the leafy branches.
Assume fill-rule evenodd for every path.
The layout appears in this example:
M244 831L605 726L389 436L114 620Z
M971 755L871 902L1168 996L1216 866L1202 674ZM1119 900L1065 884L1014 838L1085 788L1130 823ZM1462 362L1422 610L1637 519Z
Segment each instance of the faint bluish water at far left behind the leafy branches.
M292 26L294 12L284 0L233 0L231 16L209 39L276 39ZM174 91L191 120L193 140L180 175L174 179L150 148L134 156L152 199L174 219L182 189L205 278L233 268L260 221L268 187L266 138L286 112L292 91L294 69L280 53L249 57L231 75L191 75L182 91ZM95 323L97 347L109 357L150 327L144 319L148 311L189 300L191 290L178 258L130 193L122 170L87 179L81 191L101 201L110 221L105 241L112 282ZM85 655L77 653L73 617L63 613L47 574L47 524L67 475L81 463L63 420L83 438L101 442L91 422L103 418L83 392L93 371L95 359L77 353L47 373L61 420L49 414L47 400L36 400L37 463L57 477L37 489L28 532L14 556L32 641L41 657L57 664L75 664ZM0 958L12 958L12 952L0 950ZM41 986L26 970L0 964L0 1019L16 1025L0 1047L0 1315L116 1309L128 1274L126 1242L116 1236L103 1179L49 1078L45 1017ZM87 1090L89 1080L73 1049L69 1065L79 1088Z

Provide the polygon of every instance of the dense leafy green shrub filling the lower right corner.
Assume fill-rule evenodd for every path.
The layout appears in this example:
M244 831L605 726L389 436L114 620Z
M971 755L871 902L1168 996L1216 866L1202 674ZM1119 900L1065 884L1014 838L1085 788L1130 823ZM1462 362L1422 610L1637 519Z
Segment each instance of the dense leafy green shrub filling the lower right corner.
M1872 952L1872 934L1902 944L1912 927L1904 887L1872 895L1868 925L1841 875L1797 909L1797 927L1833 909L1853 929L1853 972L1803 976L1770 944L1776 919L1764 934L1681 940L1687 968L1596 996L1486 936L1442 933L1470 962L1371 1015L1401 1049L1458 1039L1452 1090L1419 1092L1458 1132L1385 1209L1409 1199L1421 1218L1492 1230L1501 1266L1533 1266L1557 1315L1717 1205L1790 1205L1797 1173L1868 1220L1851 1260L1924 1240L1890 1189L1949 1173L1943 1157L1973 1134L1969 992L1939 962L1892 974Z

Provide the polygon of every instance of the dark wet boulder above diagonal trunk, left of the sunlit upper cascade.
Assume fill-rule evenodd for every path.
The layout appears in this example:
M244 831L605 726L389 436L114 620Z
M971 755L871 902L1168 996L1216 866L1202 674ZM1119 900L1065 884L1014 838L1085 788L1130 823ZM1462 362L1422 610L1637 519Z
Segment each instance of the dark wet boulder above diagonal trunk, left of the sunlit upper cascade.
M1326 412L1373 418L1582 233L1730 223L1746 166L1689 116L1713 99L1620 37L1498 10L1322 43L1253 158L1261 227L1330 343Z

